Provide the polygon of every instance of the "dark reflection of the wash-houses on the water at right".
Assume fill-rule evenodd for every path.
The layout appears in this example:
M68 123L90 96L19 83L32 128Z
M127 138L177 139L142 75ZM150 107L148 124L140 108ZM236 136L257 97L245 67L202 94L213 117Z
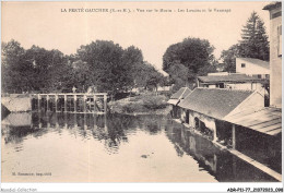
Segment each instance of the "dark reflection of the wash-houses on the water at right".
M221 150L213 143L192 133L181 124L169 121L166 135L174 144L178 156L190 155L200 166L222 182L276 181L248 162Z

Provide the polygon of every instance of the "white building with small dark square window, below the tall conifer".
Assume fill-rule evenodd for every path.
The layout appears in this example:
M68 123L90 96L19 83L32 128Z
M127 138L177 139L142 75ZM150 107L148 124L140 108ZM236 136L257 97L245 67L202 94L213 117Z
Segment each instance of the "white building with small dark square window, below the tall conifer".
M269 62L255 58L236 58L236 73L258 79L269 79Z

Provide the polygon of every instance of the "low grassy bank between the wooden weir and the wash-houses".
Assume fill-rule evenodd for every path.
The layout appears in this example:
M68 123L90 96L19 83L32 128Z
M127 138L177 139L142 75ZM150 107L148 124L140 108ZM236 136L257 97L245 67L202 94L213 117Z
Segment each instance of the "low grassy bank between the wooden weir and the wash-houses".
M156 113L167 114L169 107L168 98L164 95L156 96L153 93L140 94L138 96L110 101L110 111L117 113Z

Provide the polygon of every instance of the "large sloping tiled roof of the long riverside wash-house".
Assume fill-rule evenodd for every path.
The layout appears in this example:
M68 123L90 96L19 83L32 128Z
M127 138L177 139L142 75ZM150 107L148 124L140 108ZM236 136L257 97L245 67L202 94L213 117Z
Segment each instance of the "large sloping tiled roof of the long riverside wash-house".
M196 88L178 106L223 119L251 94L251 91L240 89Z

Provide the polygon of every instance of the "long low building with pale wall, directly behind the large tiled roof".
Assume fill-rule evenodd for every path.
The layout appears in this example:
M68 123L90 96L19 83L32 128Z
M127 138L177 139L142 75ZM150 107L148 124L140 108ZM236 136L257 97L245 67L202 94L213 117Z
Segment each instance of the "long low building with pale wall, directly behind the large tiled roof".
M263 80L237 73L210 74L197 79L198 87L259 91L264 95L263 84Z

